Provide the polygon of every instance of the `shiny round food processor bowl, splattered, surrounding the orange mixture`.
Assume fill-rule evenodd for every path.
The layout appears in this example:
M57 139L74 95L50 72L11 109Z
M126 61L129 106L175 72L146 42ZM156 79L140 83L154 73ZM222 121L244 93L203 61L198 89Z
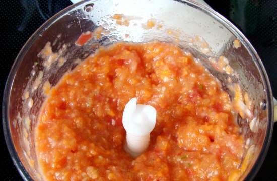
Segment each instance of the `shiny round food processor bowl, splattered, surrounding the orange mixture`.
M123 14L129 25L118 25L111 18L116 13ZM162 27L147 28L145 25L150 19ZM92 39L84 46L74 44L81 33L93 32L100 26L103 28L100 39ZM195 41L196 36L200 43ZM235 39L241 43L239 48L233 46ZM21 49L9 74L3 99L3 128L13 162L24 180L42 180L35 156L33 130L44 101L44 82L49 80L54 86L66 71L76 66L77 59L82 61L99 45L151 40L174 42L192 52L222 82L223 88L230 91L232 98L232 91L225 86L230 76L213 70L206 61L220 55L229 59L237 74L231 76L232 82L237 82L254 101L257 129L251 130L247 120L239 119L238 122L248 140L248 148L251 148L251 159L240 179L255 176L272 136L273 100L265 69L245 36L214 10L192 1L86 0L62 10L44 23ZM51 43L53 52L66 58L63 66L59 67L57 63L50 68L43 66L45 61L38 54L47 42ZM202 47L205 43L209 47ZM37 84L36 89L34 84Z

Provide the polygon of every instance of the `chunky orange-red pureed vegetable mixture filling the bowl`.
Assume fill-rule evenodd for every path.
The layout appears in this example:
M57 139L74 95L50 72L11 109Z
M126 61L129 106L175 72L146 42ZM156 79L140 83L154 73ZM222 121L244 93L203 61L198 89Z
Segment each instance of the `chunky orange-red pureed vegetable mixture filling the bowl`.
M124 150L122 113L136 97L157 110L145 153ZM47 180L228 180L244 153L229 96L175 45L100 48L50 90L36 128Z

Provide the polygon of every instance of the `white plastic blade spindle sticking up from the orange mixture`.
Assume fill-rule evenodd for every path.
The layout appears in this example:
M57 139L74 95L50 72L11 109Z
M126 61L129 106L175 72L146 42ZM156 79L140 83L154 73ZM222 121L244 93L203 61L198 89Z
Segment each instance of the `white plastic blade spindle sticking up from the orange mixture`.
M151 105L136 104L132 98L123 111L123 127L126 130L125 150L137 157L149 146L150 132L156 124L157 111Z

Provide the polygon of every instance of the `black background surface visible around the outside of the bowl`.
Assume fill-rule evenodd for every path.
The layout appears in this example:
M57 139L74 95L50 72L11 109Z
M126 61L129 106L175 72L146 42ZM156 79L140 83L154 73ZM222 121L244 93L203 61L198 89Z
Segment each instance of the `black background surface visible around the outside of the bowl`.
M277 1L205 1L233 22L250 40L263 61L273 94L277 97ZM24 43L48 18L72 3L69 0L4 0L1 3L0 96L2 97L11 66ZM274 127L277 127L276 124ZM1 132L3 132L2 125L0 178L22 180L12 163ZM255 180L277 180L277 133L273 133L268 154Z

